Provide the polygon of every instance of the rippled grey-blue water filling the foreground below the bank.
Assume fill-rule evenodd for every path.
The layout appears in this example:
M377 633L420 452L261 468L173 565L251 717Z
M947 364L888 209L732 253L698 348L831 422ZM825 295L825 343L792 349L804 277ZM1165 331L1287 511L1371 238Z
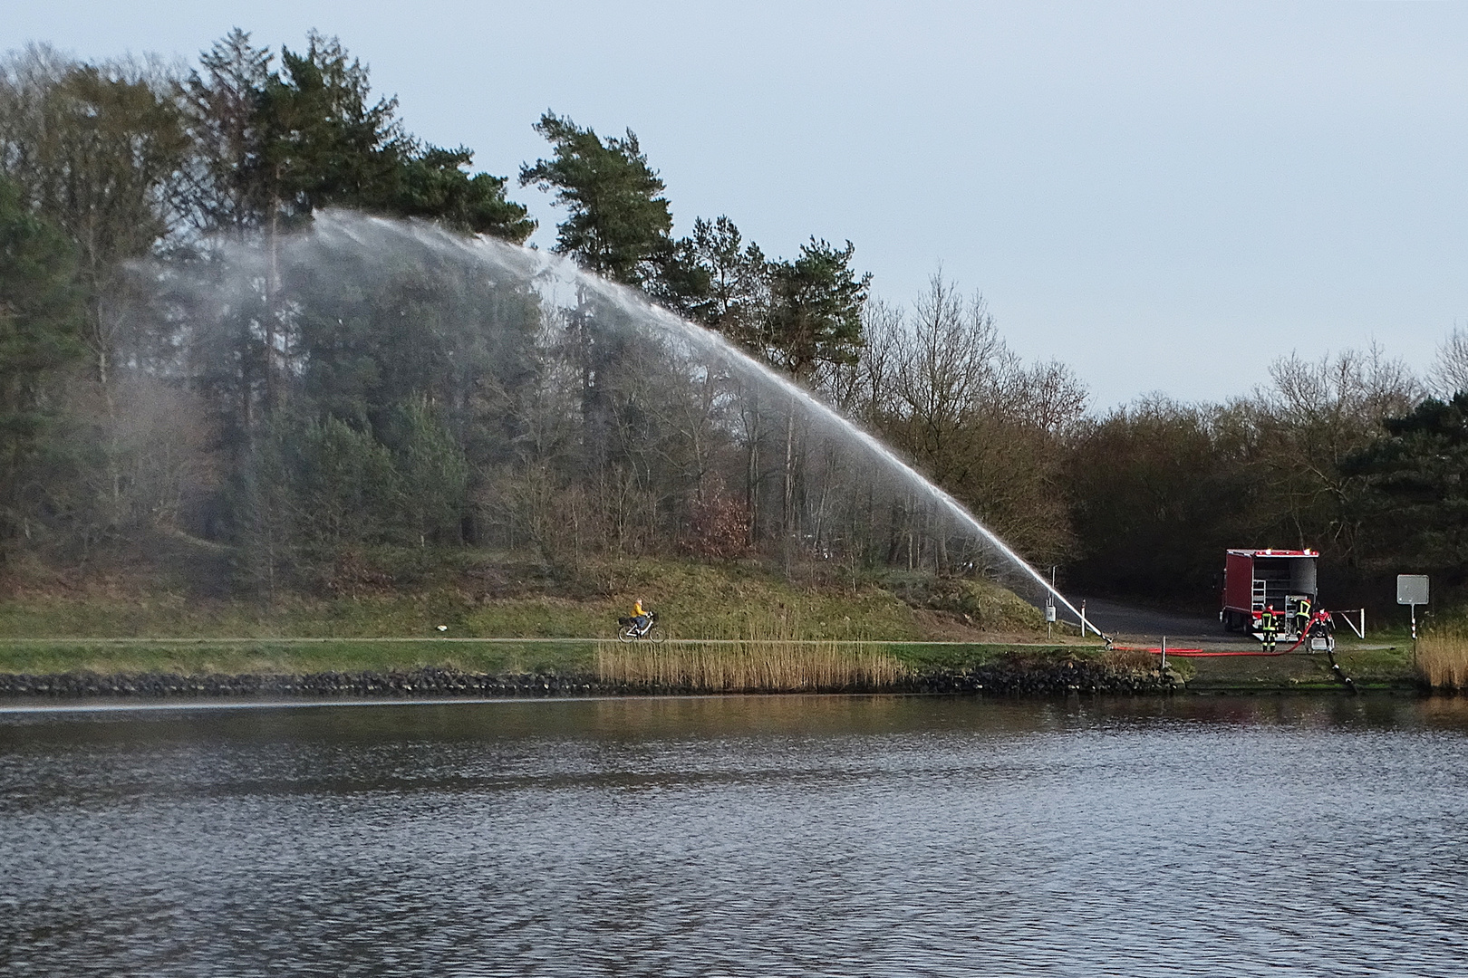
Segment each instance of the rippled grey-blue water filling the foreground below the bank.
M1468 975L1468 701L0 713L4 975Z

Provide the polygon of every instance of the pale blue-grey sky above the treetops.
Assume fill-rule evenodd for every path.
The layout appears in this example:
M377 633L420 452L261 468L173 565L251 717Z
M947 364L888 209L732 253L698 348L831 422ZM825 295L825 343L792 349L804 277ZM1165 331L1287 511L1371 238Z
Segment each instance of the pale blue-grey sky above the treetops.
M192 59L336 34L408 129L515 174L546 109L631 128L678 232L856 243L876 295L941 264L1104 409L1224 399L1271 359L1468 323L1458 3L0 0L0 47ZM553 242L556 211L514 189Z

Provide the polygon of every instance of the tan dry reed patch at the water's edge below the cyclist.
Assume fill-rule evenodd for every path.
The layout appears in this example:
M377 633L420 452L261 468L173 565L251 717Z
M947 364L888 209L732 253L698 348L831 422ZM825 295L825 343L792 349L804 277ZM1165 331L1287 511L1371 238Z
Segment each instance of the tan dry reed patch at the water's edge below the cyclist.
M907 669L887 652L853 642L743 639L735 642L602 642L596 672L605 683L699 692L837 692L888 689Z

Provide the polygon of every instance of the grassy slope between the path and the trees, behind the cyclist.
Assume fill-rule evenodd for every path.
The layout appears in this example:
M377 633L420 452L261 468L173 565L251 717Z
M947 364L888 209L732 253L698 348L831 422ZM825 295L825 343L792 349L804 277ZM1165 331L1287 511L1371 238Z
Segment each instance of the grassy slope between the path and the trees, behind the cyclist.
M43 582L44 584L44 582ZM1039 613L998 585L885 573L790 582L741 563L618 560L558 570L483 556L408 591L275 601L208 598L157 578L12 587L4 639L611 638L644 600L675 638L837 641L1032 638Z

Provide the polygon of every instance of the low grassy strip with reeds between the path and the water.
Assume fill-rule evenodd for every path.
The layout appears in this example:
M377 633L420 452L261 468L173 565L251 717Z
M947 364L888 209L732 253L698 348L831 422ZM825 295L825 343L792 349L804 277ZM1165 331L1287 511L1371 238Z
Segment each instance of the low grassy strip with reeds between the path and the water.
M1409 648L1340 650L1361 691L1421 685ZM1186 689L1271 692L1342 689L1324 655L1176 658ZM1001 669L1155 672L1157 657L1100 645L1010 642L856 642L835 639L683 639L655 647L608 639L31 639L0 641L0 673L305 676L423 669L480 676L542 673L608 686L702 692L909 688L934 676ZM1440 683L1442 685L1442 683Z

